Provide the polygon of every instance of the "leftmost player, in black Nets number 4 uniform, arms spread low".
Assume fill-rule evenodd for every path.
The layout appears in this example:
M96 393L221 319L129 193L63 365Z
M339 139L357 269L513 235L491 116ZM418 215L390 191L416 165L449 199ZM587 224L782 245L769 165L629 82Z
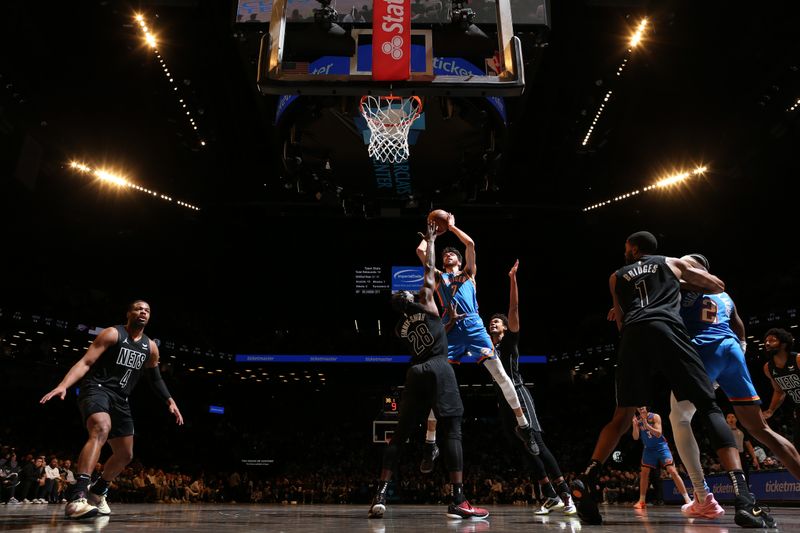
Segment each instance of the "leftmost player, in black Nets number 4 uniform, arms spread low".
M143 300L132 302L128 306L127 324L100 332L61 383L40 400L42 404L56 396L63 400L67 389L83 379L78 405L89 439L76 463L77 482L64 509L67 518L111 514L105 494L108 485L133 459L133 418L128 396L142 370L169 412L175 415L177 423L183 424L183 416L158 370L158 346L144 334L149 321L150 305ZM92 470L106 442L113 453L102 475L90 488Z

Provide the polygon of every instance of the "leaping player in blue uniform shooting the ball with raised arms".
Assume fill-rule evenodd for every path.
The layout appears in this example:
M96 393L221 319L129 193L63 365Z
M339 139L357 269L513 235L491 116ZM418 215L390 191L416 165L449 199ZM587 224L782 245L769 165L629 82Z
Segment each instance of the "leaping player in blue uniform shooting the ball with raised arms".
M475 241L456 227L455 217L452 214L448 220L447 231L453 233L466 246L466 263L456 248L447 247L442 252L444 272L435 270L436 294L442 305L442 322L448 324L450 328L447 332L447 356L456 364L465 356L478 358L478 363L489 371L503 392L506 402L514 411L517 420L516 435L526 444L528 453L536 455L539 453L539 447L533 439L533 428L522 410L514 383L494 353L492 339L486 333L478 314ZM417 256L423 264L426 261L426 252L427 242L423 239L417 246ZM462 265L464 270L461 270ZM428 472L433 468L433 459L438 455L436 420L433 414L428 418L425 442L425 457L420 470Z

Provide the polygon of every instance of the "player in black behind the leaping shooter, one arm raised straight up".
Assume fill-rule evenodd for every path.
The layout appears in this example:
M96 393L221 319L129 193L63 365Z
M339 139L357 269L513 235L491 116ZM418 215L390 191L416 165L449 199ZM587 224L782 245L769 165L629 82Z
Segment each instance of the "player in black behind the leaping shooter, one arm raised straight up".
M517 286L517 269L519 260L514 263L508 272L511 281L511 294L508 303L508 315L495 314L489 320L489 335L494 344L495 353L498 354L500 364L505 368L506 373L514 383L514 388L519 397L520 404L528 418L528 423L533 429L533 439L539 448L538 455L522 453L523 460L530 462L534 479L538 480L544 499L542 505L534 511L536 515L550 514L551 511L562 511L565 515L574 515L577 511L569 495L569 487L564 481L561 469L556 462L553 453L542 439L542 426L536 416L536 406L533 403L533 396L525 386L522 374L519 371L519 288ZM497 406L500 409L500 417L503 426L510 439L515 443L522 444L522 450L527 452L527 447L515 437L517 421L514 412L508 406L503 397L503 392L495 383L495 391L498 394ZM522 451L521 450L521 451ZM527 460L525 459L527 458ZM549 476L549 477L548 477ZM552 479L552 483L551 483ZM556 489L553 488L553 483Z

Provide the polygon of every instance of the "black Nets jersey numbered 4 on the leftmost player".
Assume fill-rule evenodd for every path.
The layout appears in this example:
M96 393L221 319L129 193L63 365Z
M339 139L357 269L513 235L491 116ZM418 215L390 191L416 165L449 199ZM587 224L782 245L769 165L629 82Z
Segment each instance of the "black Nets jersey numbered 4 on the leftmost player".
M117 343L97 359L83 378L81 387L101 386L127 398L139 381L144 364L150 358L150 339L128 336L125 326L114 326Z

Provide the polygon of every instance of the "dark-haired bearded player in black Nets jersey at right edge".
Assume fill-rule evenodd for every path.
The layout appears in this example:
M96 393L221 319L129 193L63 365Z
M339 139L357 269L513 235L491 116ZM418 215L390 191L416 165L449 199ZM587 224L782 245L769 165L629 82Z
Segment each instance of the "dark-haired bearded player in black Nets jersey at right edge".
M764 411L764 418L771 417L783 404L786 396L792 401L792 435L794 445L800 447L800 355L790 351L794 337L785 329L772 328L764 336L764 349L769 361L764 363L764 374L772 383L772 401Z

